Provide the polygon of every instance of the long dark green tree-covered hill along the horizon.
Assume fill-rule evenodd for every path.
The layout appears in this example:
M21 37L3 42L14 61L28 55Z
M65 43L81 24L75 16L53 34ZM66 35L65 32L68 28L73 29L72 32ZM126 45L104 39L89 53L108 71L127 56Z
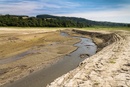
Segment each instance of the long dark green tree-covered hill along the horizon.
M130 24L98 22L84 18L53 16L48 14L29 17L26 15L0 15L0 26L17 27L130 27Z

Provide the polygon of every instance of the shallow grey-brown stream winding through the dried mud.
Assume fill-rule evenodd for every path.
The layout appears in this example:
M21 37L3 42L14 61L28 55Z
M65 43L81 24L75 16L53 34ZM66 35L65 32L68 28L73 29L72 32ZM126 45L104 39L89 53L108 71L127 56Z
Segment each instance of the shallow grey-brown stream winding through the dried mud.
M65 32L61 32L61 36L68 37L69 35ZM78 47L77 50L64 56L56 64L47 67L46 69L32 73L23 79L14 83L6 84L2 87L45 87L56 78L75 69L85 58L96 53L97 46L91 39L84 37L73 38L81 39L79 43L74 45Z

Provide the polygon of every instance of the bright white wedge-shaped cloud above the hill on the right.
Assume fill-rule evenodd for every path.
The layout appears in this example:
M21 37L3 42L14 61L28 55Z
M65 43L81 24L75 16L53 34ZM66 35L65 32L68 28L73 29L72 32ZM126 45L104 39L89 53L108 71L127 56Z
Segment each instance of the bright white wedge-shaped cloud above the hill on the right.
M111 22L121 22L130 23L130 5L123 6L123 8L118 8L114 10L102 10L102 11L89 11L80 12L72 14L57 14L59 16L75 16L82 17L90 20L96 21L111 21Z

